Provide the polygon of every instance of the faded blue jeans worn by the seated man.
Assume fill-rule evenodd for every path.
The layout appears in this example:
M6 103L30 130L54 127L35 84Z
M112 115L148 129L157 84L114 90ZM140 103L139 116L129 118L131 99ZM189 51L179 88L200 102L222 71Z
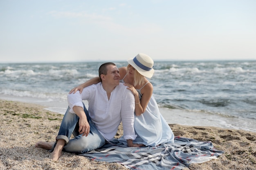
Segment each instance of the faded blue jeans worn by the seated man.
M56 141L59 139L65 140L65 146L63 148L63 151L65 152L83 154L90 150L100 148L106 142L106 139L101 135L97 130L96 125L92 122L89 112L85 108L84 104L83 108L87 121L90 125L90 133L88 136L82 136L82 134L79 134L79 117L76 114L70 113L70 107L68 107L61 122L58 136L56 137ZM70 139L71 134L74 135L74 139ZM55 147L55 145L53 147Z

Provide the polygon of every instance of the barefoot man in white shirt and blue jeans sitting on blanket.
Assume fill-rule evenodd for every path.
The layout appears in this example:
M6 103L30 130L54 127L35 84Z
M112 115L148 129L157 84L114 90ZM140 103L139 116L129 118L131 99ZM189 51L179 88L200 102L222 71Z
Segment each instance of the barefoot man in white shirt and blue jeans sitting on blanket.
M137 136L133 128L135 99L132 92L119 83L119 69L114 63L104 63L99 67L99 78L100 83L85 87L81 94L67 96L69 108L56 143L36 143L38 148L54 148L50 159L57 161L62 150L83 154L100 148L115 136L121 121L128 146L142 146L132 143ZM88 110L83 100L88 101ZM74 139L70 139L72 133Z

